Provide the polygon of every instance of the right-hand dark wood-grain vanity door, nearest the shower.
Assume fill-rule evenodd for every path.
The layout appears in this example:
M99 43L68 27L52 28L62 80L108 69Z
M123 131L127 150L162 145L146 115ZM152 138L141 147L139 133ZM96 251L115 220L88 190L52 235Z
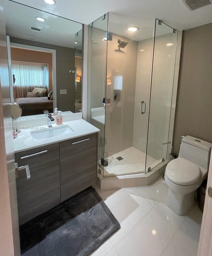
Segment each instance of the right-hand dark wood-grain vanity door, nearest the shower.
M96 182L97 134L60 142L61 202Z

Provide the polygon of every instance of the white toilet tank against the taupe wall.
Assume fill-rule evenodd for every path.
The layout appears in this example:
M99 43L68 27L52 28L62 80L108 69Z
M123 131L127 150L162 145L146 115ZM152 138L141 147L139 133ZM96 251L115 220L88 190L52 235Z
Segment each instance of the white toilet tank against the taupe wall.
M208 170L212 144L191 136L182 140L179 157Z

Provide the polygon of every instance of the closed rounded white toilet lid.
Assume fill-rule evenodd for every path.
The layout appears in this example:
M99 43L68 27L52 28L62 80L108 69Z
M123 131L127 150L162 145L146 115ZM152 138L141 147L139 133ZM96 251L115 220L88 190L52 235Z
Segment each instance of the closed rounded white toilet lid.
M167 164L166 176L176 184L192 185L200 180L201 171L196 164L183 158L177 158Z

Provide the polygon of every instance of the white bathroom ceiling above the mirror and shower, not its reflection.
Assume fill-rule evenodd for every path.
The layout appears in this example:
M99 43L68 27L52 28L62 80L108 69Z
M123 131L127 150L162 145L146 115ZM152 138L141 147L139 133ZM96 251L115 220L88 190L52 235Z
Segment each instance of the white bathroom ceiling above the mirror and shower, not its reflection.
M8 1L8 0L7 0ZM212 22L212 5L188 10L182 0L56 0L56 5L47 5L43 0L16 0L83 24L90 24L107 12L142 17L158 18L177 30L186 30Z

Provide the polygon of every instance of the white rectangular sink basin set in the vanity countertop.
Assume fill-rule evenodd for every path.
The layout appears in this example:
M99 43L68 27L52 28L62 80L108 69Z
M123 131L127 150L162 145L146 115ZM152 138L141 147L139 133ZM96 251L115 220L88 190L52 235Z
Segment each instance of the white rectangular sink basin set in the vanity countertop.
M68 125L63 125L59 127L47 128L44 130L31 131L31 136L34 140L43 140L46 138L52 138L72 132L75 131L72 130L72 128L70 128Z

